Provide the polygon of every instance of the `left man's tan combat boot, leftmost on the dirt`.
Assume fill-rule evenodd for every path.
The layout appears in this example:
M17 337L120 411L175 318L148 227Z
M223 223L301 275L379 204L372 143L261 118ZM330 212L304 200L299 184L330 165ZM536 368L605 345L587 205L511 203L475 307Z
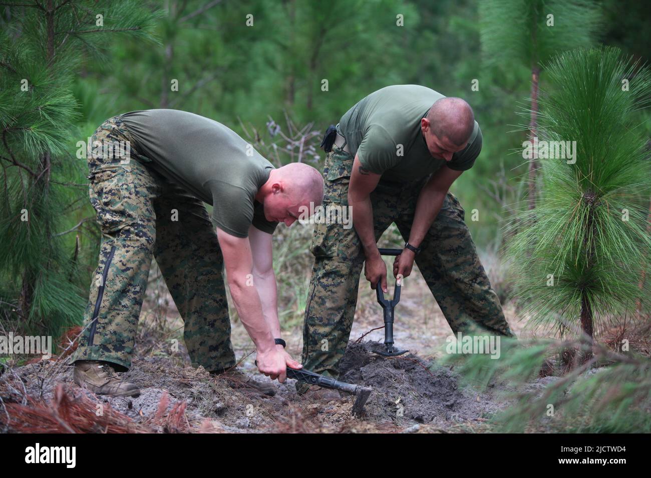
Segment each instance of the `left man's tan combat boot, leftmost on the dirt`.
M77 360L74 380L77 385L98 395L111 397L137 397L140 390L134 384L120 380L108 362Z

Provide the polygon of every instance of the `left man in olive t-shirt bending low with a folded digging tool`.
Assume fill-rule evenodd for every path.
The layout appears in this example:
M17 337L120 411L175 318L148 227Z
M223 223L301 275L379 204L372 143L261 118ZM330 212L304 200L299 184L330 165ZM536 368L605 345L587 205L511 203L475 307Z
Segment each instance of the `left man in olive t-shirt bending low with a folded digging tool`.
M95 131L90 153L90 202L102 244L72 356L75 382L102 395L139 393L116 372L131 366L155 257L184 320L192 365L273 395L270 383L234 368L222 268L258 369L284 381L286 367L301 365L283 348L271 234L303 207L321 204L319 172L301 163L274 168L223 124L171 109L110 118ZM212 217L203 203L212 205Z

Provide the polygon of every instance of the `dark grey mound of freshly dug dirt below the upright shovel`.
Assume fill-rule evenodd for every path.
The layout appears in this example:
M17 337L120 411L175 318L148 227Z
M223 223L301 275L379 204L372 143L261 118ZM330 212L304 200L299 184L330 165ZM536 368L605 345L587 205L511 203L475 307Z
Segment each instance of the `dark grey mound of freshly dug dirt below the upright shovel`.
M340 362L340 380L370 386L366 410L368 418L405 422L464 422L495 412L497 405L488 397L463 390L449 367L414 354L384 358L372 354L382 344L350 342Z

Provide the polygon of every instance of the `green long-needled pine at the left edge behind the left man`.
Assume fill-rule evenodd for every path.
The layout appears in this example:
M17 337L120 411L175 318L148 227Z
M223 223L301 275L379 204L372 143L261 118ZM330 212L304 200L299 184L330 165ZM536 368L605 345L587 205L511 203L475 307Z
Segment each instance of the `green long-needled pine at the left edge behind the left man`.
M152 38L159 17L132 1L115 1L102 8L100 20L95 4L21 3L3 11L1 332L16 327L5 318L55 337L81 321L98 236L79 228L90 218L82 202L85 159L76 146L83 138L77 73L83 64L107 59L109 38Z

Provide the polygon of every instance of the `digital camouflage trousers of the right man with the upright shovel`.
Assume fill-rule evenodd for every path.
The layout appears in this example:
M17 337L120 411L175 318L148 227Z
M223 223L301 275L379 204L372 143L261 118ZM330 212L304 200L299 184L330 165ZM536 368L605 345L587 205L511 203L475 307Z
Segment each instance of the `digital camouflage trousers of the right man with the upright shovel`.
M353 159L337 146L327 154L324 209L348 206ZM409 239L425 181L402 186L378 184L370 196L376 241L393 222L404 240ZM483 329L489 334L514 337L464 217L464 208L454 194L448 193L415 263L454 334ZM302 362L305 369L336 378L353 324L364 252L354 228L333 223L315 224L311 250L314 269L305 309ZM390 267L388 272L391 274ZM307 386L300 384L297 390L303 393Z

